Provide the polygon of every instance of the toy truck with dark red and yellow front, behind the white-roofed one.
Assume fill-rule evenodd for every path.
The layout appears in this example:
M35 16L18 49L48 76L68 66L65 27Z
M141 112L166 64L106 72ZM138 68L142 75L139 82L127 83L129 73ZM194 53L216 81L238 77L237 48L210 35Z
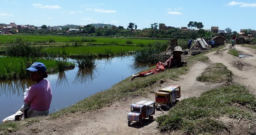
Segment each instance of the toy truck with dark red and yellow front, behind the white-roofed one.
M180 98L180 86L170 85L156 92L156 104L168 107Z

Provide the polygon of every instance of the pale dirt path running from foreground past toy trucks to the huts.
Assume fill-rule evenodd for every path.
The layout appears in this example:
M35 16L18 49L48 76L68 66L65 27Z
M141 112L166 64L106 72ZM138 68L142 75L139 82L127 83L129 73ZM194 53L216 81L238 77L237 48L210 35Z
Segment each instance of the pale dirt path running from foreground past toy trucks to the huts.
M240 47L237 45L238 51L242 51L246 54L255 55L255 51L250 51L249 48ZM153 86L154 91L158 91L160 88L164 88L169 85L181 86L181 99L189 98L192 96L199 96L202 92L221 86L221 84L207 85L196 81L196 77L211 63L223 63L234 74L234 81L243 84L244 86L250 85L250 90L254 92L256 88L255 78L256 75L256 61L255 57L238 58L227 54L227 50L209 53L206 56L210 58L210 63L198 62L194 64L188 74L180 76L176 81L164 80L165 82L156 86ZM242 63L242 68L234 67L235 63ZM239 64L237 64L239 65ZM137 79L137 78L136 78ZM138 78L140 79L140 78ZM117 102L112 106L108 106L97 112L89 113L74 113L66 116L61 116L58 119L43 120L39 123L30 125L27 129L19 131L20 134L42 134L42 135L122 135L122 134L134 134L134 135L161 135L158 131L156 121L145 119L144 125L140 126L137 123L132 123L130 127L127 124L126 110L130 111L130 105L132 103L141 100L154 101L154 94L149 94L147 97L138 97L136 99L124 99ZM118 106L120 107L118 107ZM167 113L165 110L164 113ZM159 114L162 114L161 110L156 110L154 118ZM14 133L14 134L18 134Z

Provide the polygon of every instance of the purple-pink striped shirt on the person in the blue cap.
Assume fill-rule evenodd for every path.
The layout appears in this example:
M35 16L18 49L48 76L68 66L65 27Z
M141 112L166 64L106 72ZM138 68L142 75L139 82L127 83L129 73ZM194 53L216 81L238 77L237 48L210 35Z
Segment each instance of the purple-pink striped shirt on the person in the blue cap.
M30 108L38 111L49 110L52 101L50 82L46 79L31 86L28 95L24 98L25 104L31 104Z

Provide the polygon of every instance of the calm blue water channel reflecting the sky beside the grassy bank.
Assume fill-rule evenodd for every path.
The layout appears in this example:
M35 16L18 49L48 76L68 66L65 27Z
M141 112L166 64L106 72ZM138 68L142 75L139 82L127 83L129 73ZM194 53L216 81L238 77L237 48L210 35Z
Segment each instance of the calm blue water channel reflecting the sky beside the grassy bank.
M69 59L69 61L74 61ZM46 78L52 87L50 113L75 104L97 92L107 90L125 78L148 68L149 64L134 63L132 56L96 59L96 68L49 74ZM0 81L0 119L4 119L24 104L23 92L34 84L30 79Z

